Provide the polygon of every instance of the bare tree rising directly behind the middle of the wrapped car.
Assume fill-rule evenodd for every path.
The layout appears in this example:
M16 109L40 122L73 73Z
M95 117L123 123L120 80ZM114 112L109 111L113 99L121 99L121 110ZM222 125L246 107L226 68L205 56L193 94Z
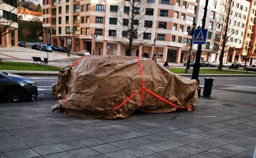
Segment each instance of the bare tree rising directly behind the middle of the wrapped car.
M127 50L126 55L131 56L132 50L148 43L148 39L151 38L153 22L145 20L151 12L153 14L154 9L149 8L150 3L147 0L119 0L118 13L113 13L113 16L117 18L117 33L113 40L119 42ZM144 33L149 34L143 38ZM111 36L111 32L109 35Z

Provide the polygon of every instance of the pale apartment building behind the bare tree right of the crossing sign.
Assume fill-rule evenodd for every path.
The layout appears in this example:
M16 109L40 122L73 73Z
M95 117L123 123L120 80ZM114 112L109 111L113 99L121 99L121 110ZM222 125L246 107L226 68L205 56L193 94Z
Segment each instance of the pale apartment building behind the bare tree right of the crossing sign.
M219 60L221 44L223 43L224 18L227 17L227 2L225 0L209 0L205 28L208 29L207 42L203 46L201 60L214 61ZM200 1L197 23L202 23L205 1ZM225 48L224 62L238 61L238 53L248 45L251 33L248 23L250 19L250 0L233 0L231 2L230 21L228 21L228 40ZM236 53L237 52L237 53Z

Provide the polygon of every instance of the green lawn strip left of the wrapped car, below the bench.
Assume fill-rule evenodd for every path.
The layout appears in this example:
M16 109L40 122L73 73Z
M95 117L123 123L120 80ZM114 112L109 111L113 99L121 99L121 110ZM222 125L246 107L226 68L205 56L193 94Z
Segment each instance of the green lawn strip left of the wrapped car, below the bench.
M0 70L31 70L31 71L59 71L59 67L44 66L27 62L5 62L0 64Z

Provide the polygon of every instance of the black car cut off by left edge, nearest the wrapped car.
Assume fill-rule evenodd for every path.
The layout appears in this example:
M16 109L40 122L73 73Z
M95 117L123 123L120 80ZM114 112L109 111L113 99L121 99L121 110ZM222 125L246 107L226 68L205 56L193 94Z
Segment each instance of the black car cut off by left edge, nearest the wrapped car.
M0 71L0 102L21 103L36 100L37 83L23 76Z

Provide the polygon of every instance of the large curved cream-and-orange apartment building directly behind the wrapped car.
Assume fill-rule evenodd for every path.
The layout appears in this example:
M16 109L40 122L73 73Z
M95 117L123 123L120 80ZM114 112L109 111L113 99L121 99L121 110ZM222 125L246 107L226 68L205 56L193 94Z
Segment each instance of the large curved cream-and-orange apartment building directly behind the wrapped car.
M135 0L135 3L140 1ZM145 15L136 23L149 29L141 37L145 41L143 45L134 42L138 48L131 55L152 58L155 53L159 62L187 61L191 36L186 31L196 19L196 0L145 0L145 3L136 8L136 14ZM122 45L124 31L120 30L123 23L119 23L125 19L120 19L122 16L119 15L129 11L127 7L126 0L43 0L44 42L46 34L51 33L51 44L68 47L69 34L65 28L71 27L72 51L88 50L92 53L95 48L96 55L126 55L126 48ZM93 33L97 34L95 41L91 37ZM108 50L107 46L110 46Z

